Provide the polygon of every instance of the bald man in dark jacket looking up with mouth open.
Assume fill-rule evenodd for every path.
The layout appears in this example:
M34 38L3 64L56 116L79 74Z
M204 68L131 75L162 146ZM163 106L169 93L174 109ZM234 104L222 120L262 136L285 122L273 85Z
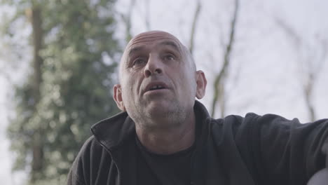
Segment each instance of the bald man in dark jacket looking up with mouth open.
M123 112L93 125L68 184L306 184L325 166L328 121L210 118L195 100L206 78L166 32L125 48L114 100Z

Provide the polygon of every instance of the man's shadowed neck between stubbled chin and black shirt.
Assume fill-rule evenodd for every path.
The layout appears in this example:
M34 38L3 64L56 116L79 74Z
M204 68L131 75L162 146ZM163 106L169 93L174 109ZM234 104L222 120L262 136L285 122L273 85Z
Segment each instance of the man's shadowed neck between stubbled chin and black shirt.
M195 141L195 116L174 128L146 129L136 124L137 137L149 151L158 154L171 154L188 149Z

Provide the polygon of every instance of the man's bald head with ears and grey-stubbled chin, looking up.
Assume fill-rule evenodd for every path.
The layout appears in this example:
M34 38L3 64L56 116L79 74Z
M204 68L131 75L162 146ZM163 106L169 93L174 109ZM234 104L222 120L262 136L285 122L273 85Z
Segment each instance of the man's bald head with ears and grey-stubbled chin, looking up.
M162 119L192 111L200 90L186 48L166 32L139 34L128 43L120 67L120 85L114 86L118 107L134 121ZM155 120L154 120L155 119Z

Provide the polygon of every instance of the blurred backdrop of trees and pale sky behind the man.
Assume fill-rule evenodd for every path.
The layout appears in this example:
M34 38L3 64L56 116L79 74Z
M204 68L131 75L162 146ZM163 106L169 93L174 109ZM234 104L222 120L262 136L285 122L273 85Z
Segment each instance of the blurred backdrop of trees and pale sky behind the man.
M132 36L177 36L215 118L328 117L328 1L0 0L1 184L64 184L90 125L118 112Z

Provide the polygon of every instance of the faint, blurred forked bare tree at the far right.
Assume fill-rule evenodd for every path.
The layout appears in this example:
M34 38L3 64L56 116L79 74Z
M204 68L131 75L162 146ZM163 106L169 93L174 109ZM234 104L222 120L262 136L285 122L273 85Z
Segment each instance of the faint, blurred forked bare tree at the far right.
M282 19L275 18L275 22L285 32L292 46L294 46L297 55L296 65L299 67L299 71L301 71L303 98L306 103L308 116L310 121L316 121L313 91L327 57L328 39L317 34L312 38L314 43L311 43L310 40L302 37L291 25Z

